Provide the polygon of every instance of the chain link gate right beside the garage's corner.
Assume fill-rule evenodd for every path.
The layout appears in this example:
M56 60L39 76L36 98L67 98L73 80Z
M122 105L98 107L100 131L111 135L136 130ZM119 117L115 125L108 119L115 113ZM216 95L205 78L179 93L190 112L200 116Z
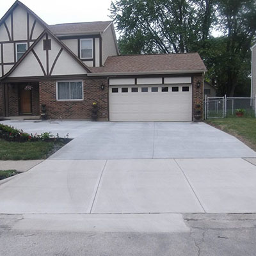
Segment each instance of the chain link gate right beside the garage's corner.
M225 117L225 97L207 97L206 99L206 118Z

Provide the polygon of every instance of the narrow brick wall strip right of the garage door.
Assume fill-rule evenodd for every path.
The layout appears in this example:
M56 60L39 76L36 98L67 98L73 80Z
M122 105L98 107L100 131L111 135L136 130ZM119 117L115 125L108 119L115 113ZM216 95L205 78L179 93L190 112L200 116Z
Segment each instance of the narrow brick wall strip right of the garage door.
M193 116L195 114L196 106L200 105L202 116L204 116L204 88L203 88L203 76L202 74L196 74L193 76ZM197 83L200 82L200 87L197 88ZM193 118L195 120L195 118ZM201 118L202 120L202 118Z

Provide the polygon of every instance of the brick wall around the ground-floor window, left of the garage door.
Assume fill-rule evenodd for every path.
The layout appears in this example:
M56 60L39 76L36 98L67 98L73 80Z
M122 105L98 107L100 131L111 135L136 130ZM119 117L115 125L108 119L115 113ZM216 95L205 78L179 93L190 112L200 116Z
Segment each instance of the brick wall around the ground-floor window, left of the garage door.
M104 83L104 90L100 84ZM40 106L46 105L48 118L91 118L92 103L99 106L99 118L108 119L108 80L86 79L83 81L84 100L56 100L56 81L39 83Z

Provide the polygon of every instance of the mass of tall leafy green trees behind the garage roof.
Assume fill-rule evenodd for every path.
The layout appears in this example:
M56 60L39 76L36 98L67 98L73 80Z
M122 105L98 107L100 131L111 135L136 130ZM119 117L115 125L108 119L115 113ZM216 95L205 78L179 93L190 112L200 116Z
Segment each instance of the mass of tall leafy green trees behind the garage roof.
M110 10L122 54L195 51L221 95L248 83L255 0L116 0Z

